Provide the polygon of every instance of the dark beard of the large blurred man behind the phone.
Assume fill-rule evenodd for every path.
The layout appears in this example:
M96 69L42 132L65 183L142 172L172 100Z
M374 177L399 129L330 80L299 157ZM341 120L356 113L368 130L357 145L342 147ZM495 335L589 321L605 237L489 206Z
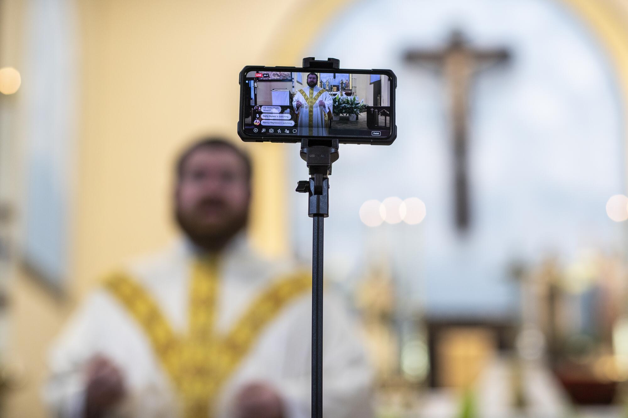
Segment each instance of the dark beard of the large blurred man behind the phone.
M200 205L203 205L203 202L198 206ZM175 217L181 230L194 244L204 250L216 252L222 250L231 238L246 227L249 213L245 211L225 218L219 225L207 225L198 220L195 214L185 214L178 207L175 210Z

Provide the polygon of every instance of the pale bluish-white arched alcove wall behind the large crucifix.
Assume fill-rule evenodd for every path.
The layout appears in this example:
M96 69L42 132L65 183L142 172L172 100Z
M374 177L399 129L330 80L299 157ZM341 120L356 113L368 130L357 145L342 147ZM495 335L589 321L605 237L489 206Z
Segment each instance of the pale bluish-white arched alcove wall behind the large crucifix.
M453 222L443 79L404 62L413 48L442 48L453 29L474 46L512 53L509 65L480 73L472 87L466 236ZM359 279L365 264L389 254L405 296L429 313L514 314L513 260L624 251L624 228L605 212L609 197L625 190L618 80L603 48L564 4L364 0L303 36L312 40L308 55L398 75L396 142L341 146L334 164L325 223L330 278ZM304 163L291 161L291 177L304 177ZM420 198L425 219L414 226L362 224L360 205L387 196ZM306 258L306 201L296 193L291 200L295 248Z

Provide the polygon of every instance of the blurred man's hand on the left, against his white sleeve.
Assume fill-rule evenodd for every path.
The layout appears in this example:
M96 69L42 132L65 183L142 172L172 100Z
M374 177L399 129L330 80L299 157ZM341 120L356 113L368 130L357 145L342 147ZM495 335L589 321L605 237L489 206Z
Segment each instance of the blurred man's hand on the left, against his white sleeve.
M124 396L124 380L119 368L104 356L87 364L85 417L99 418Z

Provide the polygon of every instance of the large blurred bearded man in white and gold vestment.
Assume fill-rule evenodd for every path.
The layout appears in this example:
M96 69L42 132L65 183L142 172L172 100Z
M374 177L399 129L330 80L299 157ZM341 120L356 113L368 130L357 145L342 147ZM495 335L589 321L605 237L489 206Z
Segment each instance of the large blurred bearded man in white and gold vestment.
M311 279L247 245L251 161L204 139L176 164L170 249L107 277L51 350L59 417L310 417ZM324 414L371 416L371 370L325 299Z

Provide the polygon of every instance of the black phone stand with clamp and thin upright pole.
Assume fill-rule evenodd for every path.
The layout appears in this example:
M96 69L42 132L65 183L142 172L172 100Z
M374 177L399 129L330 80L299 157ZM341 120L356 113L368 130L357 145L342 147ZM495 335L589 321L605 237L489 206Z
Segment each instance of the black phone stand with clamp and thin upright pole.
M303 58L303 68L340 68L340 60ZM338 159L338 139L301 139L301 158L310 171L310 180L299 181L296 191L310 196L308 215L312 218L312 355L311 417L323 417L323 220L329 216L329 178Z

